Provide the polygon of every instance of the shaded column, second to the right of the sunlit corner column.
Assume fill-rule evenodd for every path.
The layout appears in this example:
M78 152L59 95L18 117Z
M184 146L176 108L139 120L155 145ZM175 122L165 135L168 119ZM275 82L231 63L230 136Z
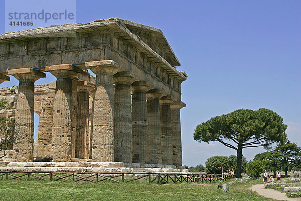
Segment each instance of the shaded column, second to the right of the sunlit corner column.
M132 90L133 163L148 163L146 91L154 88L146 81L135 81Z

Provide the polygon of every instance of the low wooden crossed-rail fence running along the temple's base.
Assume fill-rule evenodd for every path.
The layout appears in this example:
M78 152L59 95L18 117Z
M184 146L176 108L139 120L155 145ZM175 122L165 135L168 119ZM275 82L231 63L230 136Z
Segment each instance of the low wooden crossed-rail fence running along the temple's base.
M0 171L0 179L38 179L38 180L64 180L74 182L100 182L109 180L116 183L147 180L148 183L177 183L177 182L210 182L232 178L232 175L221 174L187 174L187 173L108 173L108 172L9 172Z

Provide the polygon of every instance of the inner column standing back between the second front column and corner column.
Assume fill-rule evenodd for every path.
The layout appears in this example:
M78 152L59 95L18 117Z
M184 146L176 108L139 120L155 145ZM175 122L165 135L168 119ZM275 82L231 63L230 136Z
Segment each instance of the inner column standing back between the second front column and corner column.
M75 158L89 159L89 92L93 88L92 83L87 81L77 84Z

